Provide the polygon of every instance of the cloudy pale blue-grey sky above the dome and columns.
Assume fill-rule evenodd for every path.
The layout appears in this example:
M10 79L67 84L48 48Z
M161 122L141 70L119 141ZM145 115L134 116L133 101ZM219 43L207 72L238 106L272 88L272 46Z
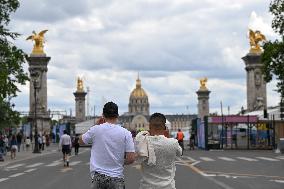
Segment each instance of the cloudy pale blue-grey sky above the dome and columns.
M90 115L114 101L128 111L139 73L150 113L196 114L199 79L208 78L210 112L246 108L248 29L267 39L268 0L20 0L9 28L30 54L33 30L48 29L48 108L74 115L76 79L89 87ZM25 64L28 71L28 65ZM19 86L16 109L29 111L29 83ZM268 106L279 102L276 81L267 85ZM87 107L87 101L86 101ZM229 108L228 108L229 107Z

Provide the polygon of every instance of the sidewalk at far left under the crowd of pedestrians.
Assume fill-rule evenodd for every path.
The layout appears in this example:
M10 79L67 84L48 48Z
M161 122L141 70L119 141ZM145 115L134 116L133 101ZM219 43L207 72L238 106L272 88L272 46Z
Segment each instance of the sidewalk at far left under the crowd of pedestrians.
M0 161L0 168L9 165L10 163L16 163L19 161L27 160L27 159L32 159L40 156L44 156L47 154L52 154L52 153L57 153L58 152L58 144L56 143L51 143L48 147L45 147L41 153L33 153L32 148L30 147L29 150L26 148L23 148L23 145L21 146L21 151L16 153L16 159L11 159L10 157L10 152L4 156L4 161Z

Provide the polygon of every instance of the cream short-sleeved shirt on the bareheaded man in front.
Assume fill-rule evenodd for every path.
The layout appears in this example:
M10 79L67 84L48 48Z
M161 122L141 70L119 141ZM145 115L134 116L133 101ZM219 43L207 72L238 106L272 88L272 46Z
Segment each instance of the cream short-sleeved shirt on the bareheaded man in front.
M182 154L178 141L164 135L147 136L147 141L154 148L156 165L148 165L147 159L141 163L140 189L175 189L175 158Z

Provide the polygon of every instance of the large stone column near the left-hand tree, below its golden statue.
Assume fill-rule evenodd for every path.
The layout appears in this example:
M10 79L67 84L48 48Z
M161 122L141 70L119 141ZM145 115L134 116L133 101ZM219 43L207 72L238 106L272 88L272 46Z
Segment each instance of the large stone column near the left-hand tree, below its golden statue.
M51 118L49 112L47 111L47 64L50 60L50 57L47 57L45 54L31 54L26 59L29 64L29 72L31 79L29 119L34 120L36 110L36 123L38 132L49 133Z

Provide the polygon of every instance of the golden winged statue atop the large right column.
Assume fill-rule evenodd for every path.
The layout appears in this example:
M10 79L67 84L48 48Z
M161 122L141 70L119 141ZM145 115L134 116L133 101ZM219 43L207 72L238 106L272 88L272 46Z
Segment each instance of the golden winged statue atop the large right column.
M266 41L265 36L258 30L255 32L249 29L249 43L251 53L261 53L259 42Z

